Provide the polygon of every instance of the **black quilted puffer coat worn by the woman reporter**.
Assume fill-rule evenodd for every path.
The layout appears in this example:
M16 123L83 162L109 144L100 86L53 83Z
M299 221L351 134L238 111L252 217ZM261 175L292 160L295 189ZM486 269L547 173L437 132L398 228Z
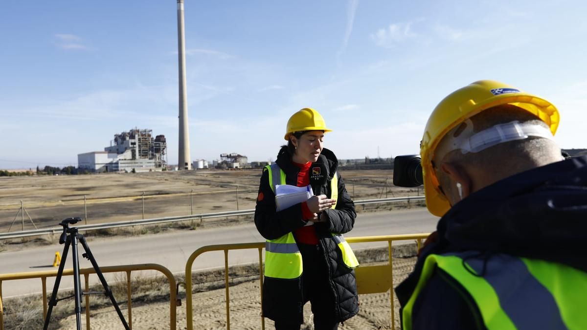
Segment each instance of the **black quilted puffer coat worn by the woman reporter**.
M328 182L322 186L323 193L330 197L330 181L336 173L338 160L332 151L323 149L319 156L328 164ZM285 172L286 183L296 186L299 168L292 164L291 156L286 147L282 147L276 163ZM342 254L332 239L330 233L344 234L352 230L355 225L355 204L346 192L345 182L338 174L338 200L335 209L325 211L328 221L316 223L316 234L319 238L319 248L323 254L330 278L332 295L336 304L332 308L336 321L342 322L359 312L359 303L355 281L355 271L346 267L342 261ZM263 237L274 240L289 232L303 227L302 204L296 204L279 212L275 211L275 194L269 186L268 171L264 171L259 185L259 198L255 207L255 225ZM294 234L295 237L295 234ZM301 278L295 280L281 280L265 277L263 282L263 315L275 320L294 321L302 323L302 289Z

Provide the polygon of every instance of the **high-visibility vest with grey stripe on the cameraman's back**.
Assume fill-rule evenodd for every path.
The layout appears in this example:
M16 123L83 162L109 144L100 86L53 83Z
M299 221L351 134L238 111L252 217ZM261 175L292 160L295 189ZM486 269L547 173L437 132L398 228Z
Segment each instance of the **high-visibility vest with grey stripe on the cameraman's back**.
M587 328L587 272L507 254L485 260L479 252L467 251L426 258L403 309L404 330L412 328L414 302L436 267L469 292L489 330Z

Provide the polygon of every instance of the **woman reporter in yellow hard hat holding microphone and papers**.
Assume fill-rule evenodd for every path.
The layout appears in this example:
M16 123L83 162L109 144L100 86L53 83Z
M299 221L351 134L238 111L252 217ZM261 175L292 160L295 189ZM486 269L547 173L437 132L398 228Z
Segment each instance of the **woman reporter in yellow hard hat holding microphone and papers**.
M323 147L326 132L331 130L316 110L294 113L286 127L287 145L261 176L255 225L267 240L263 315L278 330L299 329L308 301L316 330L337 329L359 311L353 271L359 263L342 236L355 224L355 204L335 154ZM284 184L306 187L315 196L289 205L287 198L275 198Z

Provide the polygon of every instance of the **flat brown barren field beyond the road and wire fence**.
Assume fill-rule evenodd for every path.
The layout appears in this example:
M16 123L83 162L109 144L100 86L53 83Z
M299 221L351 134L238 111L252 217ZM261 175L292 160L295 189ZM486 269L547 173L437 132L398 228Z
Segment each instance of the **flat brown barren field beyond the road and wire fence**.
M393 186L392 170L340 173L355 200L422 193ZM29 216L45 228L66 217L92 224L252 209L260 176L261 169L0 177L0 231L34 229Z

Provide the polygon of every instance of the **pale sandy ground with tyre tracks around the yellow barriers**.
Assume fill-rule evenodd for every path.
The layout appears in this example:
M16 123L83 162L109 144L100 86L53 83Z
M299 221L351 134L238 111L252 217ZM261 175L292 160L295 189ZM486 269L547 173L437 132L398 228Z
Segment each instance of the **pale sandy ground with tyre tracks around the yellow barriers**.
M413 270L416 258L396 258L393 261L393 282L399 284ZM399 303L394 297L395 328L391 326L390 292L360 295L360 311L349 319L340 330L399 329ZM126 305L121 308L126 308ZM225 309L225 289L195 293L193 295L193 325L198 330L227 329ZM261 329L261 299L259 298L259 281L241 282L230 287L230 328ZM126 310L123 310L127 317ZM132 309L134 329L169 329L169 303L137 305ZM177 329L187 329L185 298L177 307ZM304 307L305 323L302 329L314 329L310 304ZM61 329L75 329L75 315L60 322ZM83 319L85 325L85 318ZM102 308L92 312L90 325L92 329L106 330L122 328L114 308ZM265 329L274 329L271 320L265 319Z

